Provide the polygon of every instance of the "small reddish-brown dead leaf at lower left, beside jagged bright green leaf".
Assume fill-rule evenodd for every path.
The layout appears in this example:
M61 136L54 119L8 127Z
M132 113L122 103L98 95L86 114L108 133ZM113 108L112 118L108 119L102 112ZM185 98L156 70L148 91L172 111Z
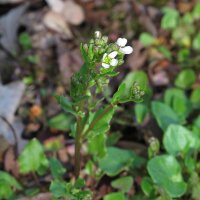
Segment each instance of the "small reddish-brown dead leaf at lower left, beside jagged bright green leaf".
M19 168L13 147L10 147L5 153L4 168L7 172L11 172L15 177L19 177Z

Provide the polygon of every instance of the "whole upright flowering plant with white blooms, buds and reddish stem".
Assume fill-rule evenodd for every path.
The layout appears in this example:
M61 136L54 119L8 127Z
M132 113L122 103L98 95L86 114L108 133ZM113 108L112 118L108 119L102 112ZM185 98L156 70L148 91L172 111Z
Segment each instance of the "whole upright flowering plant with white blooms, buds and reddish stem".
M71 101L56 96L62 108L76 117L76 124L71 129L75 138L76 178L81 168L81 144L86 141L91 154L103 157L105 134L110 129L109 124L118 105L129 101L140 102L144 96L136 79L129 78L120 84L111 100L104 97L104 89L110 78L118 74L116 69L123 64L124 56L133 52L133 48L126 44L125 38L109 43L108 37L95 32L89 43L80 46L85 63L71 78Z

